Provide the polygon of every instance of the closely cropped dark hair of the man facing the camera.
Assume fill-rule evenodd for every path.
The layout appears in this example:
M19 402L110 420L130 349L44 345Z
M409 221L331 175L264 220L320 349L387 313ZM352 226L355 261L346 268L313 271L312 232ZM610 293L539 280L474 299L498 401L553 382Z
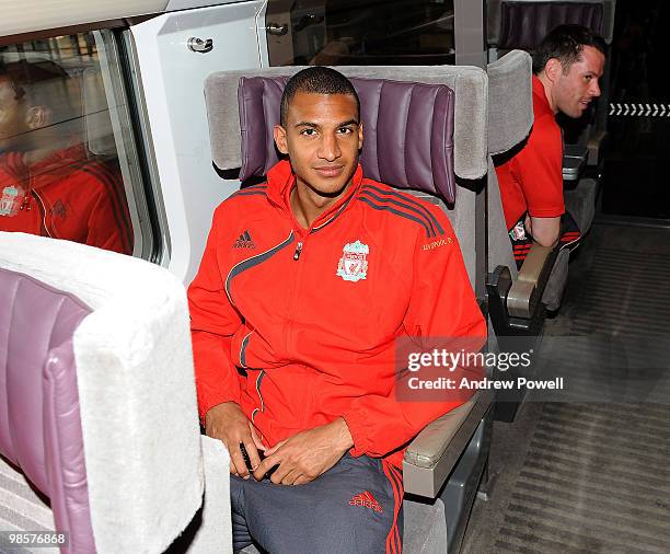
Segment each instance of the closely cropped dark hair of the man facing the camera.
M308 94L346 94L356 100L356 117L360 118L360 100L356 89L345 76L330 67L314 66L298 71L286 83L281 95L281 125L286 127L288 108L293 96L304 92Z

